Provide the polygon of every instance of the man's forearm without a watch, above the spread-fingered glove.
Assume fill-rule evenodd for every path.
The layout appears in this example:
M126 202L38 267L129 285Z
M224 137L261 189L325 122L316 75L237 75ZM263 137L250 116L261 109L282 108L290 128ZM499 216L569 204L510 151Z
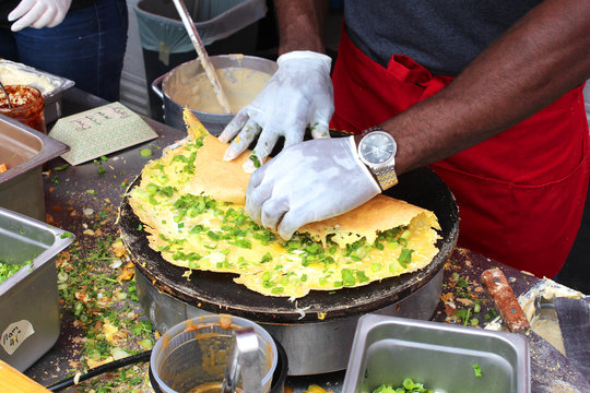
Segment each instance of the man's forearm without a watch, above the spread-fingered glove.
M324 51L328 0L274 0L279 22L279 55L292 50Z

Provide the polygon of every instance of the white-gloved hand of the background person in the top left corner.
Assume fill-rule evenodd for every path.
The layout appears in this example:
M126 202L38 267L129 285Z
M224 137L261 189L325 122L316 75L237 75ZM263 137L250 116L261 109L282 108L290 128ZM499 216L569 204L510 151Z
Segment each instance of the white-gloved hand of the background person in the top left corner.
M55 27L63 21L72 0L22 0L8 16L10 27L17 32L25 27Z

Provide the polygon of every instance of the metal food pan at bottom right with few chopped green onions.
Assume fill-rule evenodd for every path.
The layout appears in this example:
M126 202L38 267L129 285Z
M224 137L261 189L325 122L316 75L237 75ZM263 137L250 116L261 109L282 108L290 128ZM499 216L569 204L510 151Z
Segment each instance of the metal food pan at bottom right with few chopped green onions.
M342 391L370 393L411 378L435 393L528 393L530 376L528 343L518 334L367 314L358 319Z

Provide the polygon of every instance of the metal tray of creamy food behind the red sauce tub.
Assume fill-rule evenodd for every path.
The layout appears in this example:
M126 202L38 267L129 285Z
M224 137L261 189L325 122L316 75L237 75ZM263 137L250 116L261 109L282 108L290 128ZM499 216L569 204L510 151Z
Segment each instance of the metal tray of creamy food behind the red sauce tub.
M9 72L17 72L16 76L8 76ZM61 95L63 91L74 85L69 79L39 71L33 67L0 59L0 82L2 84L25 84L37 87L45 99L45 122L50 123L61 117Z

